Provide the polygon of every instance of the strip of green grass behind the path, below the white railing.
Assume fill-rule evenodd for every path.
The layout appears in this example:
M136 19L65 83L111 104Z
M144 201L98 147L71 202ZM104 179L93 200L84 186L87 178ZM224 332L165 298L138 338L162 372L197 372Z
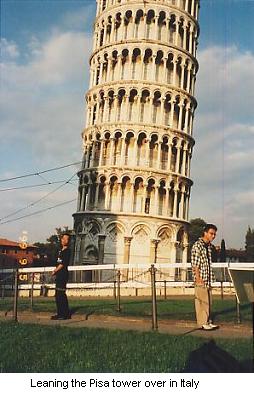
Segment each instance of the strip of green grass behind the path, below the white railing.
M90 299L90 298L70 298L70 308L73 313L78 314L105 314L119 315L116 300L114 299ZM159 319L182 319L195 320L194 301L192 297L175 297L167 300L158 299ZM13 299L0 299L0 311L11 310ZM19 311L29 310L30 299L20 298ZM53 297L39 297L34 299L33 311L55 312L55 301ZM122 298L121 316L150 317L151 299L150 298ZM242 321L251 323L253 319L251 304L241 306ZM213 318L216 322L235 322L236 305L234 298L213 299Z

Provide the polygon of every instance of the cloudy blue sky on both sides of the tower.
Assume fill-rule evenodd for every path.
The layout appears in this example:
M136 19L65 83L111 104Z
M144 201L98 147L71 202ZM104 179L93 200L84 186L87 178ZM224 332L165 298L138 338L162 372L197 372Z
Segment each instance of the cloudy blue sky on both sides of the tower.
M1 1L1 178L81 159L94 16L95 0ZM244 247L248 225L254 227L253 17L253 1L201 0L190 217L217 223L217 243L224 237L236 248ZM75 171L44 177L68 179ZM0 192L0 218L54 187ZM32 210L70 200L76 189L67 184ZM74 211L72 203L0 224L0 236L16 240L25 229L43 241L54 227L71 226Z

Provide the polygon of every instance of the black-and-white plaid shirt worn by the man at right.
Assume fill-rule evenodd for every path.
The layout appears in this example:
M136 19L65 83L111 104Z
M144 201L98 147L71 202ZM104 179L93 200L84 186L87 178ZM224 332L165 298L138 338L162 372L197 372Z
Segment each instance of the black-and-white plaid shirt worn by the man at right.
M194 243L191 249L191 266L192 266L192 272L195 283L196 283L196 274L194 268L199 269L200 278L204 281L206 287L209 287L211 283L215 281L211 264L212 264L212 245L211 244L206 245L203 239L199 238Z

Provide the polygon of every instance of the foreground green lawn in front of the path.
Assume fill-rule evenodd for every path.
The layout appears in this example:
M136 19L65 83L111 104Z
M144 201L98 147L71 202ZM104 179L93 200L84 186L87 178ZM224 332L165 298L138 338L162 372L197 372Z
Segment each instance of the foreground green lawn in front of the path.
M182 372L205 338L0 322L0 372ZM216 339L251 371L252 339ZM214 350L202 360L214 360ZM224 354L223 354L224 355ZM230 359L232 364L233 359Z

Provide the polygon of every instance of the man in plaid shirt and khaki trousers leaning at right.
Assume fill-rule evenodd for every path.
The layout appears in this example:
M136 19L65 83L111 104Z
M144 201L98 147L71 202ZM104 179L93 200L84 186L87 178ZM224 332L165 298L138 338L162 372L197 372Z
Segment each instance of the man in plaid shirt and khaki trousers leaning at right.
M213 224L206 224L203 236L199 238L191 249L191 266L195 283L195 310L197 324L204 330L214 330L211 316L211 283L215 277L211 267L212 245L217 232Z

